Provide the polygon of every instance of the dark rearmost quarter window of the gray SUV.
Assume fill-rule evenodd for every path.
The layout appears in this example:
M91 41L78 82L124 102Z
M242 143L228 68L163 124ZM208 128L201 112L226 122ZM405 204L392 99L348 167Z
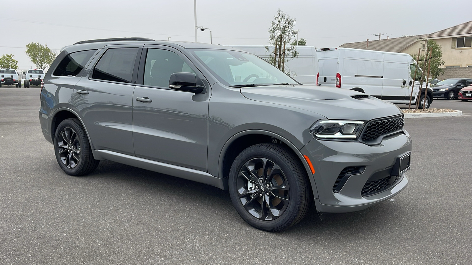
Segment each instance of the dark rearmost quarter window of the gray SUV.
M84 69L85 64L92 58L96 50L84 50L69 53L60 61L52 75L56 76L76 76ZM42 71L41 71L42 72Z

